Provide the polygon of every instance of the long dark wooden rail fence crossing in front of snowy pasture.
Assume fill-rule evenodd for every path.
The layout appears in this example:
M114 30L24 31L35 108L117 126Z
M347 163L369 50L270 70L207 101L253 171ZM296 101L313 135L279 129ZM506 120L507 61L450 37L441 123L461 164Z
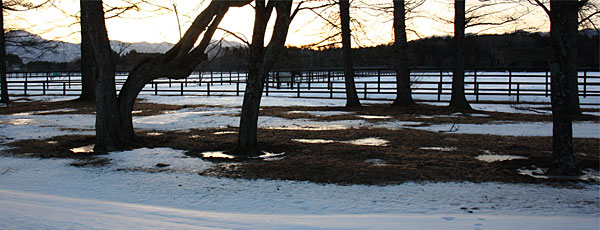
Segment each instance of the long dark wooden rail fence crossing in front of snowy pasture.
M78 95L79 72L11 72L9 92L13 95ZM116 74L117 90L127 72ZM146 85L143 94L153 95L243 95L246 71L217 70L194 72L181 80L161 78ZM393 100L396 94L392 69L355 70L357 93L361 99ZM600 70L579 71L582 104L600 105ZM342 69L279 70L269 75L265 96L304 98L345 98ZM412 69L411 89L417 100L448 101L452 72L449 69ZM470 101L509 101L548 103L550 72L543 69L472 69L465 72L465 93Z

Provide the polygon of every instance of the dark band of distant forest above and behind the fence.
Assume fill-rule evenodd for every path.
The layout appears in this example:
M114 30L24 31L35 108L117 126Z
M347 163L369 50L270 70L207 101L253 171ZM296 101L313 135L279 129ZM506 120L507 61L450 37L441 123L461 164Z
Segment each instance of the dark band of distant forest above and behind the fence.
M598 68L600 65L600 41L597 32L581 31L578 42L578 66ZM452 37L428 37L409 42L409 65L411 67L452 67ZM357 67L393 66L393 44L354 49L353 60ZM465 62L467 67L477 68L545 68L552 57L550 37L545 33L517 32L504 35L467 36ZM144 59L158 53L131 51L118 57L117 70L130 71ZM197 67L202 69L245 69L246 47L222 47L217 55ZM287 47L279 58L276 69L320 69L340 68L342 52L340 48L320 50L300 47ZM7 57L9 71L79 71L80 59L72 62L33 61L24 64L16 55Z

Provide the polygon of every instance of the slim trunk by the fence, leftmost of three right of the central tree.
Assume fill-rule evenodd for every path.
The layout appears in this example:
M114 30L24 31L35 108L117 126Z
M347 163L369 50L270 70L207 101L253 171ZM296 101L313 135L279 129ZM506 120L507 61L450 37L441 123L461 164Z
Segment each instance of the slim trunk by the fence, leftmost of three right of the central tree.
M350 31L350 2L340 0L340 19L342 27L342 53L344 58L344 81L346 83L346 107L361 106L356 85L354 83L354 67L352 64L352 34Z

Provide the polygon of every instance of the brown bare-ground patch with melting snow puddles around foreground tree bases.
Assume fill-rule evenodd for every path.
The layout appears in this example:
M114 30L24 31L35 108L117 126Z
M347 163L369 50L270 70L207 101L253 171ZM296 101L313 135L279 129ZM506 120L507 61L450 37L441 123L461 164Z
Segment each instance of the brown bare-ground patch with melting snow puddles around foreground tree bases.
M234 129L202 129L186 132L141 133L147 147L187 150L201 157L207 151L223 151L235 146ZM261 159L219 159L203 175L244 179L281 179L316 183L399 184L407 181L471 181L509 183L557 183L564 180L535 179L517 170L551 164L550 137L505 137L436 133L413 129L349 129L333 131L259 130L260 145L285 157L275 161ZM344 141L377 137L389 141L385 146L362 146ZM337 142L314 144L295 139L324 139ZM74 166L102 166L109 162L91 154L74 154L69 149L93 142L90 136L63 136L47 140L11 143L13 155L76 159ZM424 148L429 147L429 148ZM434 150L442 147L442 150ZM574 139L578 166L598 170L600 140ZM475 157L481 154L523 156L518 159L487 163Z

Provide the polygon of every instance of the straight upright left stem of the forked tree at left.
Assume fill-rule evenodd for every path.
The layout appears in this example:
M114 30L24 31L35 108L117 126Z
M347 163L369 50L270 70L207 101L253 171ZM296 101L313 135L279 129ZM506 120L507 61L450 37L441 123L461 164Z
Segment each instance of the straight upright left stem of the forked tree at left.
M94 151L104 152L122 148L119 141L119 108L115 89L115 64L110 48L104 8L101 0L81 0L82 40L90 44L95 74L96 146ZM84 42L84 41L82 41Z

